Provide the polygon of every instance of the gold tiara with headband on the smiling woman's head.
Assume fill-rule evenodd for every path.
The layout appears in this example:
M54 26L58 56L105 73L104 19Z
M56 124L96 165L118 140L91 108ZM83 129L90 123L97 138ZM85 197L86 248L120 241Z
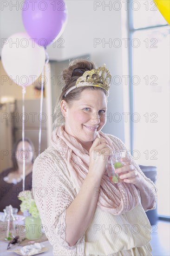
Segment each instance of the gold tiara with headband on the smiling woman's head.
M110 85L111 74L109 69L107 69L104 64L102 67L98 67L98 69L85 71L85 73L76 81L76 85L65 93L65 96L73 89L84 86L95 86L103 88L107 92L107 95L109 95Z

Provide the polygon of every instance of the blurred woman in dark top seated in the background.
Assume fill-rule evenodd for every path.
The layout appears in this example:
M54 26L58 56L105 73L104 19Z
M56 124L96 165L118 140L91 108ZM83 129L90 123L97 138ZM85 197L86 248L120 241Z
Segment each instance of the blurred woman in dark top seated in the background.
M17 141L12 149L13 167L7 168L0 174L0 211L3 211L7 205L20 210L21 201L18 199L20 191L22 191L22 170L23 158L25 157L25 190L32 189L32 171L33 171L33 152L34 146L30 139L25 139L25 152L22 152L22 139Z

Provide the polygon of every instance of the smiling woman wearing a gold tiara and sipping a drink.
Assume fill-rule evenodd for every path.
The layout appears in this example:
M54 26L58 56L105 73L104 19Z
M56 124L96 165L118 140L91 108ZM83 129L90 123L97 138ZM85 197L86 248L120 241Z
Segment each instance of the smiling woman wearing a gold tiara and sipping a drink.
M51 146L33 166L34 198L53 254L151 255L144 210L156 207L154 183L133 160L123 159L117 169L121 183L111 183L106 172L111 152L126 150L120 139L101 132L111 74L105 65L96 69L91 61L75 60L63 78Z

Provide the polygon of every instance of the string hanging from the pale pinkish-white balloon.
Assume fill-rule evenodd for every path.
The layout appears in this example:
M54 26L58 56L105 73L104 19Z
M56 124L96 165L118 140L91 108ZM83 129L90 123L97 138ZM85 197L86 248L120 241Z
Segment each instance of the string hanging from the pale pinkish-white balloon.
M23 87L22 88L22 116L23 116L23 120L22 120L22 150L23 152L25 152L25 94L26 94L26 88ZM22 155L22 160L23 160L23 167L22 167L22 191L25 190L25 176L26 176L26 158L25 158L26 154Z

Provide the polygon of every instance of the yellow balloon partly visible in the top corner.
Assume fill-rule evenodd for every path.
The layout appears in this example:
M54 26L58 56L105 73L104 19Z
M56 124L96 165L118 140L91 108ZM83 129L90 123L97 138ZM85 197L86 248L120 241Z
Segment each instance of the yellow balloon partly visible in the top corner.
M170 24L170 0L154 0L154 2L165 20Z

